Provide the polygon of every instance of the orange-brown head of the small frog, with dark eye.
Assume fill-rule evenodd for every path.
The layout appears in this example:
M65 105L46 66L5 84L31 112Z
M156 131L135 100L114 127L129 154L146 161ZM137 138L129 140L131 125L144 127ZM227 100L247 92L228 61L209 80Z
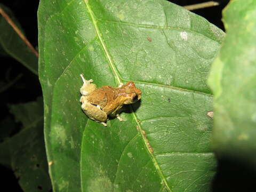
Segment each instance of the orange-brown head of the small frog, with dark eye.
M141 90L138 89L133 82L127 82L123 85L125 90L124 104L131 104L137 102L141 98Z

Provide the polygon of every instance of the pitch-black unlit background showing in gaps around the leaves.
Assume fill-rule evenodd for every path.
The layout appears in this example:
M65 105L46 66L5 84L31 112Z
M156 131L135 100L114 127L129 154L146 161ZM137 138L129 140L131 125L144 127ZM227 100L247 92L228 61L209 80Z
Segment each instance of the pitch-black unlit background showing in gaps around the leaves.
M129 1L129 0L127 0ZM169 0L172 3L185 6L206 1L198 0ZM209 7L205 9L192 11L201 15L208 21L225 30L221 22L221 11L228 3L228 0L217 1L219 6ZM39 0L0 0L5 6L9 7L15 17L20 22L22 29L30 41L36 47L38 46L38 31L37 31L37 9ZM1 31L0 31L1 33ZM6 103L20 103L36 100L39 95L42 95L41 86L38 77L31 73L28 69L20 65L11 57L0 58L0 81L6 81L6 78L13 79L19 74L22 78L15 83L10 89L1 93L0 107L2 116L0 121L10 115ZM15 134L15 133L13 133ZM1 142L1 141L0 141ZM0 151L1 153L1 151ZM25 159L26 161L26 159ZM0 165L2 174L0 191L22 191L18 184L18 179L15 178L12 170ZM256 191L254 188L255 171L251 170L243 162L235 161L234 159L219 159L218 170L213 180L212 189L217 191ZM7 189L7 190L3 190Z

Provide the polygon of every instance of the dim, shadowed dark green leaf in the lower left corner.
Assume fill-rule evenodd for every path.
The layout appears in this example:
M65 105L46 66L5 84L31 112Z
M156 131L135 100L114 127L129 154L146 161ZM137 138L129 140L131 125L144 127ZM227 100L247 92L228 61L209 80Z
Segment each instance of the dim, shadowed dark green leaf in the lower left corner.
M24 191L51 189L44 147L42 101L38 98L36 102L11 105L10 112L25 127L0 143L0 163L11 167ZM3 128L8 129L7 125Z

